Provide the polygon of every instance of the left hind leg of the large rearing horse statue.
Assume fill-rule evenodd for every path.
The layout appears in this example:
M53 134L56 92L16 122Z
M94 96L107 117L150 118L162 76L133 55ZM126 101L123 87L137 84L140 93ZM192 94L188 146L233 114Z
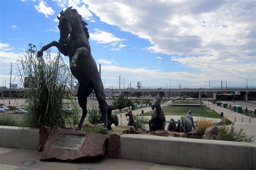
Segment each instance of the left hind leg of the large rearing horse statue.
M77 93L78 103L83 110L83 114L78 124L77 130L82 130L82 125L87 115L87 97L91 93L92 93L91 88L87 88L86 86L83 86L83 84L80 84L80 86L78 87L78 93Z

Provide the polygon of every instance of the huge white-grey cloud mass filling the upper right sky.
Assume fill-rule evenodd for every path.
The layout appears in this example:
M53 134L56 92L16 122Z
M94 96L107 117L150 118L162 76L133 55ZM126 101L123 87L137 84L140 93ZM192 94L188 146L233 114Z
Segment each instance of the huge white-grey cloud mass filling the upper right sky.
M149 40L152 45L144 49L176 55L172 61L204 73L194 76L196 80L216 75L218 79L227 77L236 81L240 79L234 77L255 79L253 1L84 0L84 3L102 22Z

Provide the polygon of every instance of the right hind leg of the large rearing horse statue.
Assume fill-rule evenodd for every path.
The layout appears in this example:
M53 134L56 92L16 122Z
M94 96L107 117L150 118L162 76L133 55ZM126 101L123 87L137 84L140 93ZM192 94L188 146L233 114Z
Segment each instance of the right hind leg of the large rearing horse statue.
M103 87L103 83L102 83L102 79L100 79L100 76L96 76L96 79L93 81L94 83L94 91L99 103L99 109L100 111L102 111L102 116L103 116L103 120L104 120L104 130L103 130L103 134L107 133L108 129L111 129L110 126L110 119L107 115L107 103L105 100L105 96L104 96L104 87Z

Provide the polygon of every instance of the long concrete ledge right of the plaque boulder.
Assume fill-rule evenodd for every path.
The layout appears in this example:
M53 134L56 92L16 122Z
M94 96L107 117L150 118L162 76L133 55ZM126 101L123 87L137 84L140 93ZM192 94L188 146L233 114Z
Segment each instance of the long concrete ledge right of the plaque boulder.
M256 146L232 141L124 134L121 158L208 169L254 169Z

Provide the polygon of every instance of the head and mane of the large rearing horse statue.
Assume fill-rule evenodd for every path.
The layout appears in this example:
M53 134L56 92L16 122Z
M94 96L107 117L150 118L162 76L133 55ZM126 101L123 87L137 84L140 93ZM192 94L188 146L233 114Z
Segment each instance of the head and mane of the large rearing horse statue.
M72 9L72 6L67 8L65 11L60 12L60 17L58 17L59 20L59 32L60 32L60 37L59 37L59 43L66 45L68 42L68 37L72 33L72 23L77 26L77 24L82 24L84 27L85 35L86 38L89 39L89 33L86 25L88 25L84 20L82 19L82 16L79 15L76 9ZM71 22L72 21L72 22ZM77 32L73 32L77 33Z

